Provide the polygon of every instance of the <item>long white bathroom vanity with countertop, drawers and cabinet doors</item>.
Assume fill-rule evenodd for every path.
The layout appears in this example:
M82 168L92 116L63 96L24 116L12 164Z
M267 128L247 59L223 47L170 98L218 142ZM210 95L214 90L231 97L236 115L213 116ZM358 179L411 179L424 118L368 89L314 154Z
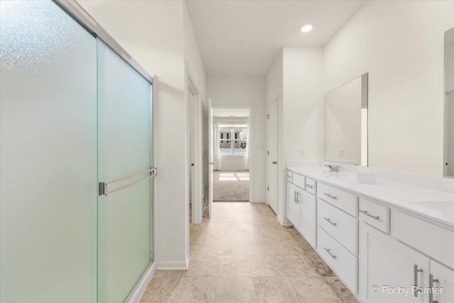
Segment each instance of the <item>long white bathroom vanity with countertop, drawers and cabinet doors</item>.
M287 162L289 221L361 302L454 302L453 180L355 170Z

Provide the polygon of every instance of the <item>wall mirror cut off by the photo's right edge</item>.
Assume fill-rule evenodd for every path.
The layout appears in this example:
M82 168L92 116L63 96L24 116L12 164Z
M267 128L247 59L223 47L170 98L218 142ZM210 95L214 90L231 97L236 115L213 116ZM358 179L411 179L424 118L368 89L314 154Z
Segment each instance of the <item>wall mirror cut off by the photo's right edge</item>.
M444 175L454 177L454 28L445 33Z

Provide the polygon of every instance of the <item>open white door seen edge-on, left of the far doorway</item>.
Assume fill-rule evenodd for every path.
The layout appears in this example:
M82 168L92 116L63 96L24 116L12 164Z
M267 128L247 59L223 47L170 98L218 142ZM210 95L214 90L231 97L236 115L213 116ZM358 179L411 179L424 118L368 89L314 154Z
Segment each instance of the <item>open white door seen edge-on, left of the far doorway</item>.
M213 204L213 166L214 166L214 128L213 128L213 105L211 99L208 100L206 109L206 153L205 153L205 166L206 166L206 185L205 196L206 206L204 205L204 214L211 216L211 205Z

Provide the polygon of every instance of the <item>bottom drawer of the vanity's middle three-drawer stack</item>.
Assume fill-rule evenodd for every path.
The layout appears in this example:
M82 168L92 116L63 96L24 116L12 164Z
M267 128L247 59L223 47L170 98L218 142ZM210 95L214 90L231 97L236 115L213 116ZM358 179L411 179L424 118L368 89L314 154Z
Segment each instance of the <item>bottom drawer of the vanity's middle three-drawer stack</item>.
M352 292L358 292L358 257L328 235L320 226L317 228L317 251L321 258L336 272Z

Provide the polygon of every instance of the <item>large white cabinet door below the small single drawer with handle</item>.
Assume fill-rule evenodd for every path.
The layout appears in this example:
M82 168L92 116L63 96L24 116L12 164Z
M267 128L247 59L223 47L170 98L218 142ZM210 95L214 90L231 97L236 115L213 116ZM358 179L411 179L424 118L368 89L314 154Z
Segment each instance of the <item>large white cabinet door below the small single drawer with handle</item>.
M362 302L427 302L414 285L428 285L429 259L381 231L360 223L360 298Z

